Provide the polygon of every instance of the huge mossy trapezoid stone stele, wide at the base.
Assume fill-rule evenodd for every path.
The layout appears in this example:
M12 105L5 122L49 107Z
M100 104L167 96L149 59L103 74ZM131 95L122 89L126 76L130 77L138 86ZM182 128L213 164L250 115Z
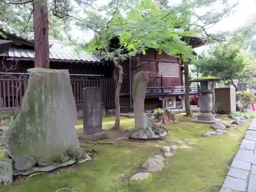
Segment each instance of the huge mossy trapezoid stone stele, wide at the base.
M29 69L30 77L19 112L7 131L6 148L15 161L31 155L35 161L69 160L79 146L76 106L68 70Z

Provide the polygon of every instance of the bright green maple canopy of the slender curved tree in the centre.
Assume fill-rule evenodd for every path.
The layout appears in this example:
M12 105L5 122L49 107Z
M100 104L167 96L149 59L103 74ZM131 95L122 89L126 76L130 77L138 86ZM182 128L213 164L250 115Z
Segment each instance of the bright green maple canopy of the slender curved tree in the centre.
M114 11L113 11L114 10ZM119 58L121 60L147 49L156 49L169 55L182 54L184 59L192 56L192 49L181 40L183 36L193 36L197 31L177 31L181 17L175 12L160 9L158 3L142 0L111 1L104 7L102 16L99 12L89 12L77 25L82 30L91 29L95 38L87 45L90 52L103 54L105 59ZM112 38L118 37L120 45L110 46ZM103 48L108 48L108 52Z

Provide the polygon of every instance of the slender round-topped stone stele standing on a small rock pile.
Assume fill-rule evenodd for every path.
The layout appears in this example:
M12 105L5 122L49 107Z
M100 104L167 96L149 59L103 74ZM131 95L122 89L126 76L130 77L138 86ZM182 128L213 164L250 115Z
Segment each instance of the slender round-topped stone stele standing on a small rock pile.
M135 129L146 128L147 121L144 116L144 100L146 96L148 78L143 72L138 72L133 78L133 107Z

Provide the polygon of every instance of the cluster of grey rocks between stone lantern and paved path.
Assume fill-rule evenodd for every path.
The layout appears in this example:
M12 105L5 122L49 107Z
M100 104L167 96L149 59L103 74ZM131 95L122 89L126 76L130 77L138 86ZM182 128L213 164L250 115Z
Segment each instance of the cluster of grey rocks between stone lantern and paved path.
M244 123L244 120L246 119L245 117L236 117L232 113L230 113L228 117L233 120L231 124L228 124L228 123L212 124L210 125L210 128L214 129L215 131L203 133L202 137L210 137L212 135L224 135L228 132L229 128L242 125Z

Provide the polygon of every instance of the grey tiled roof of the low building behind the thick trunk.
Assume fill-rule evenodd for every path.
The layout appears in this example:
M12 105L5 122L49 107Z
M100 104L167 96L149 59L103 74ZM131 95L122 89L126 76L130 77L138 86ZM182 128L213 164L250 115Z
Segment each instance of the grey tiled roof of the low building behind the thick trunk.
M11 47L8 51L1 54L2 56L16 57L16 58L34 58L35 51L29 49L22 49ZM50 48L50 60L70 60L70 61L101 61L100 56L87 53L85 51L76 52L72 47L63 46L54 43Z

